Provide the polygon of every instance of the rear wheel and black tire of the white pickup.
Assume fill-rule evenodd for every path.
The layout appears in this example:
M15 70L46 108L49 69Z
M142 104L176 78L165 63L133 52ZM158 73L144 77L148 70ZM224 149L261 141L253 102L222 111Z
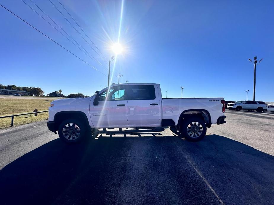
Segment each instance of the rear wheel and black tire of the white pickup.
M185 118L180 123L180 134L188 141L199 141L206 135L206 124L199 117Z

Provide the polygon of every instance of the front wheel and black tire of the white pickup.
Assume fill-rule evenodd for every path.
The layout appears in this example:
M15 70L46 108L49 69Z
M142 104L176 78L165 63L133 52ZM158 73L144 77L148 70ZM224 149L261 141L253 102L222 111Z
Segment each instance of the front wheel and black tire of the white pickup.
M73 144L84 139L87 131L87 126L82 121L67 119L60 123L58 135L63 141Z

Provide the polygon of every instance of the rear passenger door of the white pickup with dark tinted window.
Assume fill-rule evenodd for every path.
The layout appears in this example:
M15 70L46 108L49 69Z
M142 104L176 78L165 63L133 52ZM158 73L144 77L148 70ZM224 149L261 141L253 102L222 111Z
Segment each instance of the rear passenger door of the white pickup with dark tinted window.
M127 85L129 126L160 126L160 99L154 85ZM157 92L155 92L157 89Z

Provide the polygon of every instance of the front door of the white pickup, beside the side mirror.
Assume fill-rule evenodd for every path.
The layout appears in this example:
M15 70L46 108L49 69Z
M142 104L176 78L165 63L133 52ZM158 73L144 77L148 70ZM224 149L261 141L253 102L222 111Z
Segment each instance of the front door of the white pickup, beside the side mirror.
M98 105L90 104L90 117L95 128L128 127L125 86L117 85L99 93Z

